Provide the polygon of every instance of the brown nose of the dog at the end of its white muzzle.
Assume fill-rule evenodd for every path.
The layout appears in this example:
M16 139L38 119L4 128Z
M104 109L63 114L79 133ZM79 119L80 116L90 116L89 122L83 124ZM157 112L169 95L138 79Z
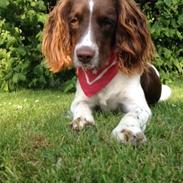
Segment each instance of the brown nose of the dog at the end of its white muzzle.
M83 63L83 64L87 64L89 63L92 58L95 56L95 50L93 50L90 47L81 47L76 51L78 60Z

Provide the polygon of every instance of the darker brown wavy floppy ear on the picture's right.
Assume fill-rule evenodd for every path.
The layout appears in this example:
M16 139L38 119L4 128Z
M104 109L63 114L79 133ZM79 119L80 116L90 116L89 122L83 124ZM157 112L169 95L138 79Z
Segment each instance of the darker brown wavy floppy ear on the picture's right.
M147 20L133 0L119 0L116 51L119 66L127 73L141 73L154 55Z

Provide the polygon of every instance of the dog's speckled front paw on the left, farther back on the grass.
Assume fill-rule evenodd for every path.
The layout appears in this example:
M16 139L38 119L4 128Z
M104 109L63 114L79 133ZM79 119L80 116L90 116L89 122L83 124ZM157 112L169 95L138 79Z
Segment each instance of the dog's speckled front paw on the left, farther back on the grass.
M77 131L82 130L87 125L95 125L95 122L87 121L86 119L82 119L82 118L77 118L70 123L70 127L73 130L77 130Z

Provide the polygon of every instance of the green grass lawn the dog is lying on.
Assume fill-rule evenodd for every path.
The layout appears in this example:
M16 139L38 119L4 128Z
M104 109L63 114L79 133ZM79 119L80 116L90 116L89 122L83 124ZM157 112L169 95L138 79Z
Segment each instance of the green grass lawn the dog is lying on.
M0 182L182 183L183 78L172 98L152 108L147 143L110 140L121 113L95 113L96 127L68 127L73 94L60 91L0 93Z

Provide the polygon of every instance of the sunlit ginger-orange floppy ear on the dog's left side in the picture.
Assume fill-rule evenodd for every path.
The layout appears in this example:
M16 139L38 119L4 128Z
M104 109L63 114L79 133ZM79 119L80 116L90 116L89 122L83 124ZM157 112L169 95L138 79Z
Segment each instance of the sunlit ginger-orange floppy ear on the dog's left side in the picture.
M71 43L67 24L69 1L62 0L50 12L43 31L42 52L53 72L69 67Z

